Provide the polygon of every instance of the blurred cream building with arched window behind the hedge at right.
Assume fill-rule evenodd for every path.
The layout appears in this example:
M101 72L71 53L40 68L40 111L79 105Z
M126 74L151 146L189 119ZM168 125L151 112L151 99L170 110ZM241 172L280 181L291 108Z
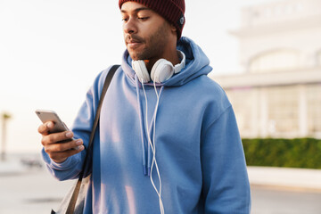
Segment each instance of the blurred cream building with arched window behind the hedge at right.
M243 137L321 138L321 0L243 8L242 74L217 76Z

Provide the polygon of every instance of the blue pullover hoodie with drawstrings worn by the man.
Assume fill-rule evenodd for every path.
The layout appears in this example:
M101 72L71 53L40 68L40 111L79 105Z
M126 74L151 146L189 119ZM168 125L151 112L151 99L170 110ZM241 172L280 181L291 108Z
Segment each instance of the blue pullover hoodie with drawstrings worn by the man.
M207 77L210 61L202 49L187 37L177 49L185 53L185 68L157 84L156 91L152 82L142 86L124 53L103 101L85 213L160 213L151 177L156 189L161 187L165 213L250 213L250 185L232 106ZM108 70L95 79L72 127L85 147ZM78 177L86 150L62 163L42 153L53 176L65 180Z

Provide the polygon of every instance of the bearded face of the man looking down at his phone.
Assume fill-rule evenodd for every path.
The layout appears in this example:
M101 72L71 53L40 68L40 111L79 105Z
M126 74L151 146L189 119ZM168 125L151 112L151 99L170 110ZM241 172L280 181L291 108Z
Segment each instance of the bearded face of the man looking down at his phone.
M143 4L127 2L121 6L123 33L130 57L156 62L166 54L170 24Z

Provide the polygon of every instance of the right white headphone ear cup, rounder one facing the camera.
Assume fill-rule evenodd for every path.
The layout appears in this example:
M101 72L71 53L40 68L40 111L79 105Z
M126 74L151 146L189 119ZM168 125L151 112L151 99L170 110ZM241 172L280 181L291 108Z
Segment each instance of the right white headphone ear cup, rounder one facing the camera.
M160 59L152 66L151 78L156 83L165 82L174 74L174 66L171 62Z

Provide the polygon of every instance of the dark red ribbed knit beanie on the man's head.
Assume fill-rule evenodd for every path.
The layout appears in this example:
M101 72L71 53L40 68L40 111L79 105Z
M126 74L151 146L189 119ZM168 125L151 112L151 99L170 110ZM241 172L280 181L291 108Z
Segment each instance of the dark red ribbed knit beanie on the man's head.
M177 28L177 38L181 37L185 25L185 0L119 0L119 8L126 2L144 4L154 12L158 12Z

